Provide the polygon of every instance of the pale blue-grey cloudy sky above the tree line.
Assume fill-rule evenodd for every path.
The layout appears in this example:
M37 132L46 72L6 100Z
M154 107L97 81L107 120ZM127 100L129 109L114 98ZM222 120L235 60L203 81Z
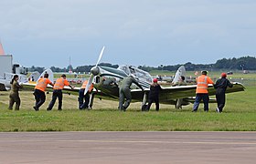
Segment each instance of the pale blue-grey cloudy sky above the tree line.
M255 0L1 0L5 54L31 67L211 64L256 55Z

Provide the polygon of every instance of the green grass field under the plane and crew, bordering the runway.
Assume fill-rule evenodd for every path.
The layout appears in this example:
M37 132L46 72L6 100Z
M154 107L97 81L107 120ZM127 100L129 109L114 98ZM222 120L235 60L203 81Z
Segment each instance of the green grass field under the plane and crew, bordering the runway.
M128 111L119 112L117 101L95 98L90 111L77 109L76 96L64 95L63 110L47 111L47 102L36 112L32 108L32 92L21 91L22 106L19 111L8 110L8 92L0 92L0 131L255 131L256 130L256 87L247 87L245 92L227 95L224 112L203 112L200 105L192 113L192 105L177 110L173 106L161 105L149 112L141 112L141 103L133 103Z

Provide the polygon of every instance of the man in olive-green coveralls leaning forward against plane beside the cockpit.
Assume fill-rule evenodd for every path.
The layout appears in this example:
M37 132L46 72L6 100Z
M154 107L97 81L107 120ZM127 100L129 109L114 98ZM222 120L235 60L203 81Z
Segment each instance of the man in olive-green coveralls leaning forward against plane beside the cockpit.
M121 82L121 85L119 87L119 107L118 108L121 111L125 111L126 108L129 107L129 105L132 101L132 95L131 95L130 87L132 86L133 83L135 85L137 85L138 87L140 87L144 91L144 88L141 85L139 85L139 83L135 80L133 74L131 74L129 77L124 77L122 82ZM126 100L125 100L125 103L124 103L125 98L126 98Z

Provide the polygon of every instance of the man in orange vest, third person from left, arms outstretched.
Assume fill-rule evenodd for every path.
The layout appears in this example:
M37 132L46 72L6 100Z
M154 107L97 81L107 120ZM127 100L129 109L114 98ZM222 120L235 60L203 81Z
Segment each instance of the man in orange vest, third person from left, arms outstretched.
M64 86L69 86L71 87L71 89L73 89L72 86L70 86L69 81L66 79L66 75L63 74L61 75L60 78L58 78L54 84L53 87L53 93L52 93L52 99L48 105L48 110L51 110L56 102L56 99L58 97L59 99L59 107L58 110L62 110L62 89L64 88Z

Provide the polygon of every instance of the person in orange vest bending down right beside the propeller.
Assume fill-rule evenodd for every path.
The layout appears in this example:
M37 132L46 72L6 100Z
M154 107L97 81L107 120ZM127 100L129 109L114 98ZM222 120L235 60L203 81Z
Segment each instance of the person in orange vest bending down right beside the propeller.
M88 84L88 80L85 80L82 83L82 86L80 87L80 91L79 91L79 108L80 108L80 110L85 109L85 108L91 108L91 107L89 107L89 103L90 103L90 95L89 94L91 94L91 91L93 89L93 83L91 84L91 87L88 88L87 93L84 95L84 91L85 91L87 84Z

